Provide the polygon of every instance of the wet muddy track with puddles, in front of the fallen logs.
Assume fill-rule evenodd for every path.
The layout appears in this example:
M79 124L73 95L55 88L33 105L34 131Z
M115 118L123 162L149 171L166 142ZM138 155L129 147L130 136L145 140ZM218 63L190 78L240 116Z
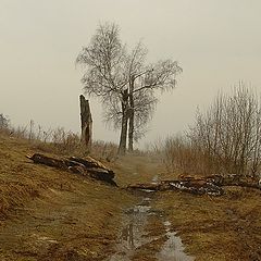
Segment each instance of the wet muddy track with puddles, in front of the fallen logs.
M158 175L154 175L152 183L157 183ZM107 261L132 261L132 260L159 260L159 261L192 261L194 257L185 253L185 246L177 232L172 231L171 222L165 217L162 210L152 207L157 192L152 190L136 191L140 202L128 208L123 213L122 231L114 248L115 253L105 259ZM149 219L153 217L162 224L160 235L150 235L146 229ZM153 227L150 227L153 229ZM158 243L158 247L150 249L148 246ZM145 248L142 251L142 248Z

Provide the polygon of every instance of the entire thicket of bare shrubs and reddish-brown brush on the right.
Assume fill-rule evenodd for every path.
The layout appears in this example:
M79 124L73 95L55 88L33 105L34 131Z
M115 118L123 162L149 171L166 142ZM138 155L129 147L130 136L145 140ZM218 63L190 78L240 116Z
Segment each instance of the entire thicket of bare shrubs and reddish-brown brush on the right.
M260 97L243 83L231 95L220 92L184 136L166 138L161 152L172 172L259 176Z

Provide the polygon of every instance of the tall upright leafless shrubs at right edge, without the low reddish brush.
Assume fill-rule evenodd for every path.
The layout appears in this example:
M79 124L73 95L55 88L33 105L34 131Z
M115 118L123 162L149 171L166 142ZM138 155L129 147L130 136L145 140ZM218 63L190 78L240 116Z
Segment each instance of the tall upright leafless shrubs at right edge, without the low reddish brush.
M261 103L243 83L198 112L190 138L209 159L209 171L256 175L261 157Z

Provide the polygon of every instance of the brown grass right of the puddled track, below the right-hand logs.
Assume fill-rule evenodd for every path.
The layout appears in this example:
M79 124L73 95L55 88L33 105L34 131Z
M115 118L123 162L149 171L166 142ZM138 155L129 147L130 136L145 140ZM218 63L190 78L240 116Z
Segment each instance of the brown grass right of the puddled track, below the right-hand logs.
M261 260L259 190L231 188L220 198L162 192L156 208L167 214L186 250L199 261Z

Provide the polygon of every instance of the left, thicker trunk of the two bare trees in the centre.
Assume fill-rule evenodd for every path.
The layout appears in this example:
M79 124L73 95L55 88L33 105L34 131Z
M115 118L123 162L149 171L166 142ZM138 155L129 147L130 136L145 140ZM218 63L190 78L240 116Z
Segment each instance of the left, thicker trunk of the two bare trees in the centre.
M128 91L124 90L123 100L122 100L122 128L121 128L120 145L117 149L119 154L126 153L127 123L128 123Z

